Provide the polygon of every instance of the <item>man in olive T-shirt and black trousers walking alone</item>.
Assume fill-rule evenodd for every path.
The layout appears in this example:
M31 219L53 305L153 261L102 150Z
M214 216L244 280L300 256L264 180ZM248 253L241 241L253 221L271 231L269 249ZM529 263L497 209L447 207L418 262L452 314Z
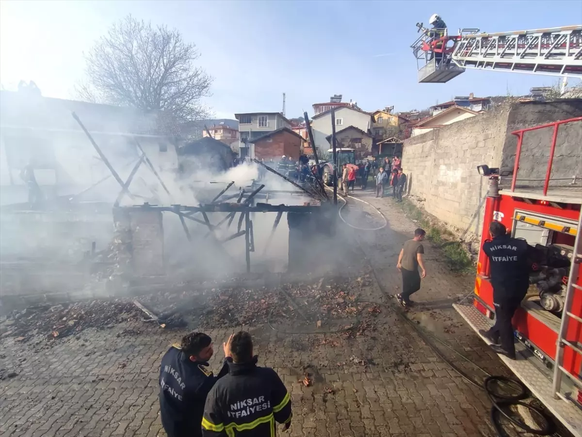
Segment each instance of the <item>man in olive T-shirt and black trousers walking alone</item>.
M427 276L427 269L424 268L424 246L422 241L426 232L424 229L416 229L414 238L406 241L400 255L398 255L398 264L396 268L402 273L402 293L396 294L400 305L408 307L412 304L410 295L420 290L420 280ZM418 273L420 266L422 273Z

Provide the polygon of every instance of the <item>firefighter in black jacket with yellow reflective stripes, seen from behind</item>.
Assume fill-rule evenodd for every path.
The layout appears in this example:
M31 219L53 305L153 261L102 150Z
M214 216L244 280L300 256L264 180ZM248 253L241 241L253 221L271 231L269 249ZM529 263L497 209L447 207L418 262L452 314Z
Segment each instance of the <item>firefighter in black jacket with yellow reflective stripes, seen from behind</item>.
M275 422L291 425L291 399L274 370L258 367L248 332L232 337L229 373L206 399L203 437L274 437Z

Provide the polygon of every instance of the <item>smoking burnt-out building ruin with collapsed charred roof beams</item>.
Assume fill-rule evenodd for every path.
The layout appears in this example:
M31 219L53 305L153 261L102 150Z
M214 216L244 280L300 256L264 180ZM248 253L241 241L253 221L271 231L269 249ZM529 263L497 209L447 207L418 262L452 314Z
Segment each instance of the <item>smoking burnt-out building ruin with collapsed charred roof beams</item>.
M113 205L83 202L72 195L49 204L3 205L3 219L12 220L16 229L23 216L34 216L35 228L45 235L57 228L63 228L61 234L76 226L94 229L98 222L109 239L95 241L91 232L79 237L76 231L79 247L66 261L54 251L25 260L3 257L3 312L34 304L127 297L177 285L203 286L209 280L256 282L274 273L304 274L325 261L337 211L320 184L299 185L255 161L245 164L245 169L253 169L252 177L235 174L236 180L228 180L228 172L195 174L184 192L183 185L158 172L137 137L130 140L138 157L122 177L115 159L102 150L81 117L74 112L70 116L83 131L86 147L108 169L106 179L115 182ZM143 171L155 181L151 191L163 196L134 191L136 175ZM14 232L15 240L26 235L22 230ZM29 243L34 246L35 241Z

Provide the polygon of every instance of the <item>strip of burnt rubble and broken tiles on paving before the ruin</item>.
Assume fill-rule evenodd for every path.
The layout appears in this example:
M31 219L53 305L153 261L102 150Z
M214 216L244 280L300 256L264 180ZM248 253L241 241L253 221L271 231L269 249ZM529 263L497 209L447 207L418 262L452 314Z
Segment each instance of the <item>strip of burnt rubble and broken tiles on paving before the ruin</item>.
M112 329L123 322L147 322L159 329L217 329L269 326L288 334L337 333L322 344L374 332L381 304L363 299L368 275L287 283L278 287L212 287L115 300L37 305L10 312L0 323L3 340L52 347L86 329ZM132 331L133 332L133 331ZM138 332L139 333L139 332ZM122 332L123 334L123 332Z

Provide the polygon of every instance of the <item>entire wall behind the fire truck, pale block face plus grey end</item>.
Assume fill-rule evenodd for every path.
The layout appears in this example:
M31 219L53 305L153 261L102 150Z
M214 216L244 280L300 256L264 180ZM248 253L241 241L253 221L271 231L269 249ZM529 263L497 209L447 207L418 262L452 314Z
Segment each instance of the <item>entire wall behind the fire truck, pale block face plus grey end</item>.
M487 179L478 175L477 166L513 168L517 139L511 132L580 115L580 99L506 104L409 138L402 159L409 175L407 193L457 234L476 239L487 194ZM551 134L551 129L526 134L520 178L544 177ZM580 177L581 149L581 122L560 127L552 177Z

